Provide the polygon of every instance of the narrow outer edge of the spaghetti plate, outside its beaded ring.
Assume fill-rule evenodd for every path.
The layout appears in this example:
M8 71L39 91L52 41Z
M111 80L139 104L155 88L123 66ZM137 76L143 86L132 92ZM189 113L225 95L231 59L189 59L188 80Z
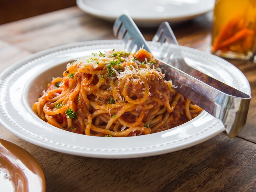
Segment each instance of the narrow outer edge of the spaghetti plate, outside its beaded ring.
M120 44L121 41L120 40L97 40L97 41L87 41L87 42L79 42L79 43L72 43L72 44L67 44L67 45L61 45L61 46L57 46L57 47L52 47L50 49L46 49L44 51L40 51L38 53L35 53L35 54L32 54L32 55L29 55L28 57L16 62L15 64L9 66L6 70L4 70L1 74L0 74L0 80L2 81L2 77L5 76L8 72L10 73L11 71L14 71L15 68L17 68L18 66L19 67L22 67L24 66L24 64L20 64L20 63L24 63L26 61L29 61L31 60L32 58L38 58L38 56L42 56L42 55L47 55L47 54L51 54L53 52L61 52L61 51L64 51L64 50L69 50L69 49L76 49L76 48L79 48L79 47L84 47L84 46L89 46L89 45L92 45L92 46L97 46L97 45L107 45L107 44ZM189 47L183 47L181 46L182 49L187 49L187 50L192 50L192 52L197 52L198 54L203 54L203 55L210 55L210 56L213 56L216 60L221 60L222 62L225 62L225 63L229 63L221 58L218 58L217 56L214 56L214 55L211 55L211 54L208 54L208 53L205 53L203 51L199 51L199 50L195 50L193 48L189 48ZM230 63L229 63L230 64ZM230 64L232 65L232 64ZM233 65L232 65L233 66ZM233 66L234 68L236 68L235 66ZM237 69L237 68L236 68ZM239 69L237 69L239 70ZM240 70L239 70L240 71ZM241 73L241 72L240 72ZM241 73L241 75L244 76L243 73ZM245 76L244 76L245 78ZM245 78L246 79L246 78ZM247 81L247 86L249 85L249 82L248 80L246 79ZM2 85L1 85L2 87ZM250 86L248 87L248 91L250 92ZM0 109L0 111L2 111ZM52 145L49 144L49 143L43 143L43 142L40 142L40 141L37 141L33 138L30 138L30 137L27 137L25 135L23 135L22 133L18 133L17 131L15 131L15 129L12 129L5 121L3 121L1 118L0 118L0 122L3 126L5 126L6 129L8 129L10 132L14 133L16 136L28 141L28 142L31 142L35 145L38 145L38 146L41 146L41 147L44 147L44 148L48 148L48 149L51 149L51 150L56 150L56 151L59 151L59 152L64 152L64 153L68 153L68 154L72 154L72 155L80 155L80 156L87 156L87 157L100 157L100 158L133 158L133 157L146 157L146 156L152 156L152 155L159 155L159 154L165 154L167 152L172 152L172 151L176 151L176 150L180 150L180 149L184 149L184 148L187 148L187 147L190 147L190 146L194 146L200 142L203 142L205 140L208 140L212 137L214 137L215 135L219 134L220 132L222 132L224 130L224 127L222 129L219 129L217 131L214 132L214 134L211 134L209 136L206 136L206 137L203 137L201 139L199 139L197 142L195 141L191 141L191 142L187 142L186 145L183 145L181 146L180 148L167 148L167 149L162 149L162 150L156 150L156 151L143 151L143 150L140 150L138 152L134 152L134 151L131 151L130 152L126 152L126 153L123 153L123 154L118 154L118 151L116 151L117 153L115 154L114 151L111 151L112 154L102 154L102 153L96 153L95 151L94 152L88 152L86 151L86 153L81 150L80 152L78 152L77 150L76 151L72 151L71 148L63 148L63 147L59 147L57 145ZM222 125L223 126L223 125ZM175 128L173 128L175 129ZM140 136L140 137L143 137L143 136ZM47 146L47 147L45 147ZM69 150L71 149L71 150Z

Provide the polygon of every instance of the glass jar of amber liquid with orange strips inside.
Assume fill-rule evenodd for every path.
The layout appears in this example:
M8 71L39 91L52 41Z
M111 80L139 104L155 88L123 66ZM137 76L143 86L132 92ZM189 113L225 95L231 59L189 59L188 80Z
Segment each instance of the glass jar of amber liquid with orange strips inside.
M212 53L250 59L256 50L256 0L216 0Z

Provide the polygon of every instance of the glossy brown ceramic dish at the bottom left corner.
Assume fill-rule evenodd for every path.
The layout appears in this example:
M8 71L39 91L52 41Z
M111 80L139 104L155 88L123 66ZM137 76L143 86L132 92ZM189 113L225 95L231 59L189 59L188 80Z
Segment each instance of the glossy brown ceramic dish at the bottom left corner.
M45 192L45 177L37 160L23 148L2 139L0 170L14 183L15 191Z

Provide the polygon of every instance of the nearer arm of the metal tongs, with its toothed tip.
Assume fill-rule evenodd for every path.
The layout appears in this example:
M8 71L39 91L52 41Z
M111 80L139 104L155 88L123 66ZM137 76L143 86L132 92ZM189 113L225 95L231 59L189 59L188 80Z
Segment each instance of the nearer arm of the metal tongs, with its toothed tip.
M130 16L123 14L118 17L113 26L113 33L119 39L123 39L127 51L138 51L140 47L143 47L152 53ZM165 78L172 80L176 91L220 119L229 137L237 136L246 123L251 96L211 77L213 81L220 82L220 85L216 86L220 90L216 89L188 75L187 71L183 72L156 57L155 59L160 68L164 70ZM223 89L221 89L222 86L224 86ZM225 89L227 90L223 92Z

